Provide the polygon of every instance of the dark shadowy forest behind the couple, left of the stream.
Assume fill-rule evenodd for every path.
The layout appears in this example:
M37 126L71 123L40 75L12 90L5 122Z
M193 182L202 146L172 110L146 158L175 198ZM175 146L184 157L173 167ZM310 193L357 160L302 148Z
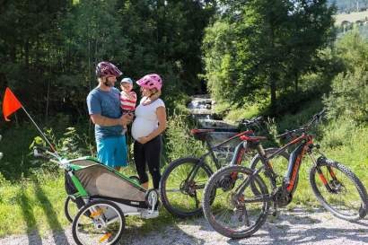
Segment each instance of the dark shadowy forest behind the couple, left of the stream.
M0 91L9 86L46 118L84 118L94 66L109 60L134 79L162 74L171 93L199 92L201 41L214 2L2 1Z

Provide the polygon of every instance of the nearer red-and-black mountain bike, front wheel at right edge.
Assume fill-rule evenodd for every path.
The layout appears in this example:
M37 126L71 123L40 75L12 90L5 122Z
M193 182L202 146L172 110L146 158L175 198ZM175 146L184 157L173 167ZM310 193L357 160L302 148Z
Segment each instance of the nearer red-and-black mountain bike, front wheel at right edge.
M253 142L258 155L250 166L229 166L209 179L203 196L206 220L216 232L230 238L245 238L257 232L266 222L271 204L276 208L287 206L293 200L298 175L305 154L311 157L309 182L318 201L329 212L346 221L357 221L367 214L367 192L355 173L343 164L328 159L320 152L320 145L313 143L311 127L317 125L325 110L316 114L303 127L287 131L279 137L292 136L292 140L274 153L265 153L258 137L247 136ZM290 153L288 170L281 184L276 184L277 174L273 170L273 158L294 145ZM318 158L314 152L320 154ZM260 173L271 183L267 185ZM227 179L223 185L223 179ZM232 181L229 181L231 179ZM214 197L215 193L215 197Z

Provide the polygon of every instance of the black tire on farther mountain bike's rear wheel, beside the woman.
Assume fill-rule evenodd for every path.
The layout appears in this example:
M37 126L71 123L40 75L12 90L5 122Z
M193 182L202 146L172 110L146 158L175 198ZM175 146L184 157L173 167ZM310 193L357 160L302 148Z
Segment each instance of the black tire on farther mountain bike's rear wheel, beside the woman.
M195 165L198 164L199 161L200 161L199 159L193 158L193 157L180 158L176 161L173 161L173 162L169 163L168 167L162 173L162 178L160 180L160 196L161 196L161 200L162 200L162 205L171 214L173 214L175 216L178 216L180 218L185 218L185 217L190 217L190 216L202 214L202 206L197 206L195 208L184 208L184 207L180 207L178 205L175 205L175 201L178 201L177 198L175 198L175 200L171 200L171 197L168 196L168 180L171 177L172 172L175 171L176 169L180 168L180 166L182 166L183 164L189 163L189 164L195 166ZM187 179L188 173L190 172L191 169L192 168L189 168L187 174L184 175L184 178L182 178L182 179L184 179L184 180ZM202 169L203 173L206 174L206 181L207 181L210 178L210 176L212 175L213 171L211 171L210 167L206 163L204 163L201 166L201 169ZM179 179L179 181L180 181L180 179ZM181 189L180 189L180 192L181 192ZM183 192L181 192L181 193L186 195L187 197L180 199L179 200L180 202L183 202L183 201L190 202L191 201L190 199L188 199L190 197L189 194L185 194ZM197 195L197 192L196 192L196 195ZM199 201L199 203L200 203L200 199L201 198L199 198L197 200L197 201Z

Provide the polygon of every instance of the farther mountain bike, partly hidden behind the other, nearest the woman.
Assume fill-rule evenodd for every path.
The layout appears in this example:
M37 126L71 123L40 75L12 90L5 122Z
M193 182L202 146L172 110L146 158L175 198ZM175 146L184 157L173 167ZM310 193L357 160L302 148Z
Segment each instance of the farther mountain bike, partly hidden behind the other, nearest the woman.
M241 120L241 125L246 128L258 125L262 118L252 118L250 120ZM233 140L241 140L235 147L235 152L232 156L231 165L240 165L241 162L250 162L251 154L248 152L249 144L248 136L253 136L251 130L243 131L235 136L232 136L225 141L212 146L208 140L209 132L214 132L215 129L192 129L191 134L197 138L204 139L208 151L199 158L184 157L169 163L168 167L162 173L160 181L160 194L162 205L173 215L179 217L188 217L196 214L201 214L202 206L200 200L206 182L214 173L210 165L206 162L209 156L215 163L215 169L219 170L221 164L215 156L214 151L220 149L223 145L229 144ZM278 148L269 148L265 152L267 154L274 153ZM280 155L288 159L289 154L285 151L280 152Z

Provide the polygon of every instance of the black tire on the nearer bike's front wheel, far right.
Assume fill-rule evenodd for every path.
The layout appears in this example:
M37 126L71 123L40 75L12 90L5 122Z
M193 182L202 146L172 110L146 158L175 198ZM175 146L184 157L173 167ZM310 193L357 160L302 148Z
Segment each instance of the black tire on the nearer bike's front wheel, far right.
M324 166L329 166L329 167L333 168L334 170L340 171L342 174L344 174L347 177L347 179L351 180L354 183L354 187L358 192L358 196L359 196L360 202L361 202L360 207L359 207L359 211L357 212L357 214L344 214L341 211L338 211L337 208L334 207L331 202L329 202L328 200L326 200L325 197L323 197L324 195L321 194L320 188L318 186L321 186L322 189L324 189L326 192L328 192L327 188L325 188L323 183L322 183L322 185L318 185L317 182L316 182L316 179L317 179L316 177L319 177L317 167L324 167ZM326 178L326 176L325 176L325 178ZM326 180L328 180L328 179L326 179ZM339 179L342 179L342 176ZM362 184L361 180L358 179L358 177L356 177L355 173L353 171L350 171L343 164L341 164L339 162L334 162L334 161L329 160L329 159L322 159L321 161L318 160L318 164L311 168L310 179L309 180L310 180L310 184L311 184L311 188L313 190L313 193L317 197L320 204L322 206L324 206L327 210L329 210L330 213L337 216L338 218L346 220L346 221L354 222L354 221L358 221L358 220L364 218L364 216L367 214L367 206L368 206L367 191L364 188L364 185ZM334 182L331 182L331 181L332 180L330 180L328 182L329 186L337 185L337 184L334 184ZM346 184L346 182L342 183L342 186L337 186L337 187L346 188L346 186L344 184ZM354 195L351 192L351 191L353 191L353 189L354 188L349 190L349 196L350 197L352 195ZM337 191L340 191L340 190L337 189ZM334 194L334 193L330 193L330 194L332 194L331 197L332 196L336 197L336 194ZM332 197L332 199L333 199L333 197ZM340 200L339 203L341 204L342 201Z

